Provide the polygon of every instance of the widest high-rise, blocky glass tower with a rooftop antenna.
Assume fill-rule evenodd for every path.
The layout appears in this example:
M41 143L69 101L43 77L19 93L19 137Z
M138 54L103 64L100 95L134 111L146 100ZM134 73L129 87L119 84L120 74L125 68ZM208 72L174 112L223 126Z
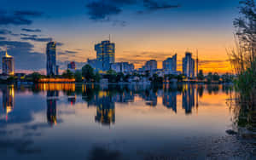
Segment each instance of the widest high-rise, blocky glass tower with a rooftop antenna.
M115 45L110 41L102 41L95 45L96 60L102 62L102 71L108 71L114 63Z

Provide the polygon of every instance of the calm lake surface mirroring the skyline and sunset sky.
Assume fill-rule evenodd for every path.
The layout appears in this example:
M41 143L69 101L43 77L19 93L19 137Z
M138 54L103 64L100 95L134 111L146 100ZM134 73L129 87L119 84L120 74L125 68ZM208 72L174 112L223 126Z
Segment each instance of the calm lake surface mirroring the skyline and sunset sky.
M0 87L0 159L253 159L231 86Z

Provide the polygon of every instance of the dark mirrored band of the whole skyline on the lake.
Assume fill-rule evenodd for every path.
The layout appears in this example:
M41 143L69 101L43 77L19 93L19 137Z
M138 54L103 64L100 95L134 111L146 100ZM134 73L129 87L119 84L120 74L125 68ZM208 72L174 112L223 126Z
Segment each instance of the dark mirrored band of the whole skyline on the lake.
M232 92L231 86L223 85L76 85L74 83L41 83L32 88L16 89L14 85L1 87L3 93L3 111L8 119L10 111L15 107L15 92L34 94L46 92L47 122L50 125L57 123L57 101L65 97L67 104L75 106L77 100L85 101L88 107L96 107L95 122L103 125L115 123L116 103L128 104L134 102L136 97L144 101L145 106L158 107L162 105L172 109L177 114L177 96L182 97L182 108L185 114L193 113L194 108L200 107L199 97L203 97L204 91L208 94L225 94ZM160 98L160 99L159 99ZM63 103L63 102L62 102Z

